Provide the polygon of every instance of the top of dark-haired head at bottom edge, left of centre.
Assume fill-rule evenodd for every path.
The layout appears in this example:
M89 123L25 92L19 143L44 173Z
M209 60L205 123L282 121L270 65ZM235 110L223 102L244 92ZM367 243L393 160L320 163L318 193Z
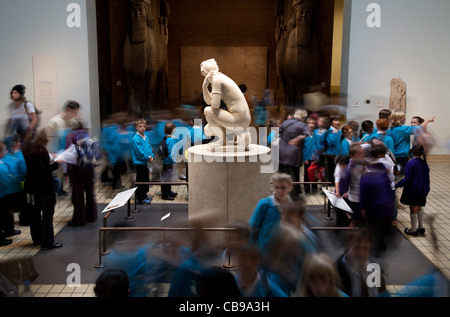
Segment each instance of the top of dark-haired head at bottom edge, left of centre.
M130 293L130 282L124 270L107 269L95 280L96 297L124 298Z

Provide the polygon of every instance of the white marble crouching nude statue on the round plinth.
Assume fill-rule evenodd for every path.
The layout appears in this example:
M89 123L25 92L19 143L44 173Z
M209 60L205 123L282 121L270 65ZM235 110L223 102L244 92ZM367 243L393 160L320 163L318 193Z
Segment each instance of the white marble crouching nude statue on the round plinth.
M219 72L214 58L202 62L200 72L205 77L202 92L208 105L204 109L208 122L204 130L207 136L215 136L208 143L209 149L215 151L216 147L227 146L226 134L232 132L235 135L233 146L247 150L251 141L248 132L251 115L244 94L231 78ZM226 109L221 107L222 101Z

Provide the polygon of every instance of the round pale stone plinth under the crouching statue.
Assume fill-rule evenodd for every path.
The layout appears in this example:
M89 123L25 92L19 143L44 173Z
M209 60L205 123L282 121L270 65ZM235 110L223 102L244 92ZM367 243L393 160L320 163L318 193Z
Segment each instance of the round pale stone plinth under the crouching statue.
M248 151L189 149L189 218L214 213L214 227L247 222L261 198L270 195L270 148L251 144Z

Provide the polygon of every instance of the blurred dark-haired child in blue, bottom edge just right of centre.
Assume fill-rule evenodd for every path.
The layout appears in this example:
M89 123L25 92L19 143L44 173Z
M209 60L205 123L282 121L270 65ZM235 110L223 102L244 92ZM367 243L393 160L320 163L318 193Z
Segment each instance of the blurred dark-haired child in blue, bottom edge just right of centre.
M260 268L261 253L254 245L246 245L237 251L235 279L243 297L288 297Z

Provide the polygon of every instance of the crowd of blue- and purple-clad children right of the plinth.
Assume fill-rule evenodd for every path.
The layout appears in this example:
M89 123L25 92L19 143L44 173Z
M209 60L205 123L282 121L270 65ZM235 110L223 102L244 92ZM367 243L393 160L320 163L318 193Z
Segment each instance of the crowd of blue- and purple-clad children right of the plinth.
M305 181L306 168L312 161L320 162L326 181L351 207L354 225L370 214L379 218L381 211L392 214L390 220L396 224L395 189L403 188L400 202L409 206L411 215L411 228L405 228L405 233L424 233L422 207L430 190L426 127L434 117L416 116L411 125L405 125L403 111L383 109L375 124L363 121L359 133L354 121L341 126L338 114L318 117L317 127L315 121L306 121L311 133L304 143Z

